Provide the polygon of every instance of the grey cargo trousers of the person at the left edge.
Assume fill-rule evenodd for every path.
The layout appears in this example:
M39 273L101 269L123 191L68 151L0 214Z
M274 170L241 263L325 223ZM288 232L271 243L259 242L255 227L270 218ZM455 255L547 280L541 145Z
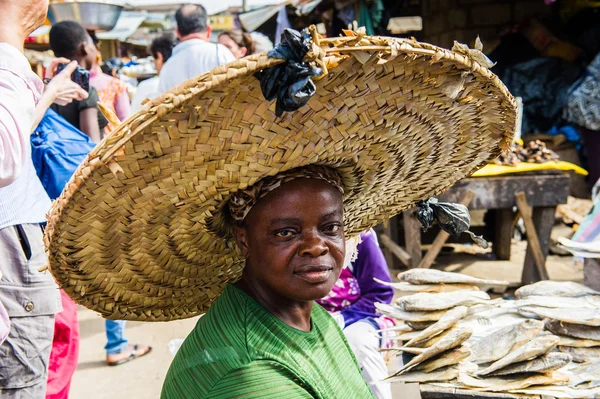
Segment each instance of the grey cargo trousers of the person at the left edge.
M0 345L0 398L43 398L54 335L61 310L58 287L47 264L39 224L0 229L0 299L10 317L8 338Z

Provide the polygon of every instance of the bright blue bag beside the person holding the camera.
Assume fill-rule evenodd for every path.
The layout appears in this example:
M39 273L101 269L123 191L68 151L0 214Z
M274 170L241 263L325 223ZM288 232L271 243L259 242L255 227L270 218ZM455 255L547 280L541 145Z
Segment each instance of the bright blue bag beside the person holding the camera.
M31 135L31 158L50 199L58 198L96 144L62 116L48 109Z

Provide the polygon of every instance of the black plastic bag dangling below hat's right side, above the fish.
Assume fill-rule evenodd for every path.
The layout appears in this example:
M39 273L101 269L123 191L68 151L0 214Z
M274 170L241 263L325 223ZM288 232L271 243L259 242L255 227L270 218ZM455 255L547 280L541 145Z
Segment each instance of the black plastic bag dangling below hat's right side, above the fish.
M475 244L482 248L488 247L488 243L483 237L469 231L471 216L466 206L450 202L438 202L436 198L430 198L427 201L419 201L417 207L415 216L421 222L423 230L427 230L434 222L437 222L440 228L454 239L457 239L462 233L467 233Z

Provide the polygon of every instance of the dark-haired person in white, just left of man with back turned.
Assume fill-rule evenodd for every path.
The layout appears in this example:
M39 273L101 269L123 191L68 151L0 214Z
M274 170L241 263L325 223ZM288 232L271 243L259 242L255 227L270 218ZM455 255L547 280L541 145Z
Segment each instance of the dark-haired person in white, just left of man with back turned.
M145 99L153 99L161 94L159 87L160 78L158 74L162 70L165 62L171 58L173 47L177 43L177 37L172 33L165 33L152 40L150 44L150 54L154 58L154 67L156 68L157 76L146 79L137 87L133 100L131 100L131 112L136 113L142 108L142 101Z

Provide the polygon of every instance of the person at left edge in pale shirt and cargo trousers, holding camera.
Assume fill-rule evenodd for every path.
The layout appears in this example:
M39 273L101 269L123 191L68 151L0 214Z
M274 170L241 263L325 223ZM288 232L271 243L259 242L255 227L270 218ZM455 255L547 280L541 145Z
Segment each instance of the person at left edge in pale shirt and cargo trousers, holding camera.
M50 198L33 166L29 136L53 102L87 98L70 79L76 63L44 87L23 55L25 39L47 10L48 0L0 0L0 302L11 319L0 345L5 399L44 398L54 315L61 309L54 279L38 271L46 265L41 223ZM55 60L47 77L62 62L68 60Z

